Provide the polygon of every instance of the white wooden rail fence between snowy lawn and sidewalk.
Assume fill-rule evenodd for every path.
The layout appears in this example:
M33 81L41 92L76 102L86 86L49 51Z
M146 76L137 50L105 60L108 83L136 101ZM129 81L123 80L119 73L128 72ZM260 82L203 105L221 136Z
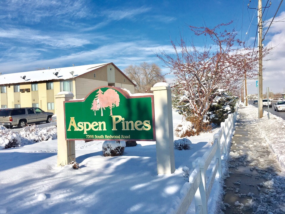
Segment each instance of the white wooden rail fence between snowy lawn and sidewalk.
M208 199L216 174L218 173L219 177L222 175L221 160L227 155L227 144L231 141L234 131L237 109L238 105L236 111L229 114L225 122L221 123L218 133L213 136L213 146L192 163L194 169L189 177L191 186L176 214L185 214L193 199L195 199L196 214L208 214Z

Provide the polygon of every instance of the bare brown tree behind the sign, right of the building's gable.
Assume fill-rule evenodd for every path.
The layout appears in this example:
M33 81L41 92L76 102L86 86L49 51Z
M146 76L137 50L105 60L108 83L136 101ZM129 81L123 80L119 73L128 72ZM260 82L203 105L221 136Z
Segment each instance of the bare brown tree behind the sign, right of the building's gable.
M150 92L157 82L165 82L164 75L158 65L143 62L140 65L129 65L125 68L126 75L137 85L136 93Z

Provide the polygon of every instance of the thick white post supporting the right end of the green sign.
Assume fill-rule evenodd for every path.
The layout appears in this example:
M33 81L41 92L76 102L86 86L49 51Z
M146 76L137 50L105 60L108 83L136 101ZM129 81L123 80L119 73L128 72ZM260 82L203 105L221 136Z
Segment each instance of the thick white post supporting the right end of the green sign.
M175 171L171 90L167 83L151 88L154 100L157 174Z

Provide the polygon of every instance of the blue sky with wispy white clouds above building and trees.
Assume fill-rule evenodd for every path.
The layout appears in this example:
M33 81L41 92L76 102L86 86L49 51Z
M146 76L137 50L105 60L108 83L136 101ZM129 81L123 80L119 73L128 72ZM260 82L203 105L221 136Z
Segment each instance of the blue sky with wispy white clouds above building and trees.
M267 1L262 3L265 6ZM0 72L104 62L113 62L123 71L141 62L162 67L155 52L172 53L170 37L179 39L181 32L184 38L193 38L195 45L203 46L202 38L195 37L187 25L213 27L231 20L238 37L253 46L257 13L247 4L243 0L1 0ZM279 4L280 0L272 0L263 20L270 21ZM257 0L252 0L250 7L256 8ZM284 5L276 17L275 21L285 18ZM285 87L284 31L284 22L274 22L265 37L265 45L278 46L270 56L274 60L264 63L268 67L263 73L264 91L270 87L270 91L283 92ZM248 85L248 93L256 93L255 81L248 82L253 84Z

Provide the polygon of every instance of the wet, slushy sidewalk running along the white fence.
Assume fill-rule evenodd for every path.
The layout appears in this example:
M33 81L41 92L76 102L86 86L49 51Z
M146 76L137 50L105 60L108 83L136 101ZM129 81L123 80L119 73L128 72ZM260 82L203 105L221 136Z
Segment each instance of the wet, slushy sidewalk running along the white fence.
M284 169L259 128L262 119L252 119L248 110L248 107L238 110L221 211L285 213Z

